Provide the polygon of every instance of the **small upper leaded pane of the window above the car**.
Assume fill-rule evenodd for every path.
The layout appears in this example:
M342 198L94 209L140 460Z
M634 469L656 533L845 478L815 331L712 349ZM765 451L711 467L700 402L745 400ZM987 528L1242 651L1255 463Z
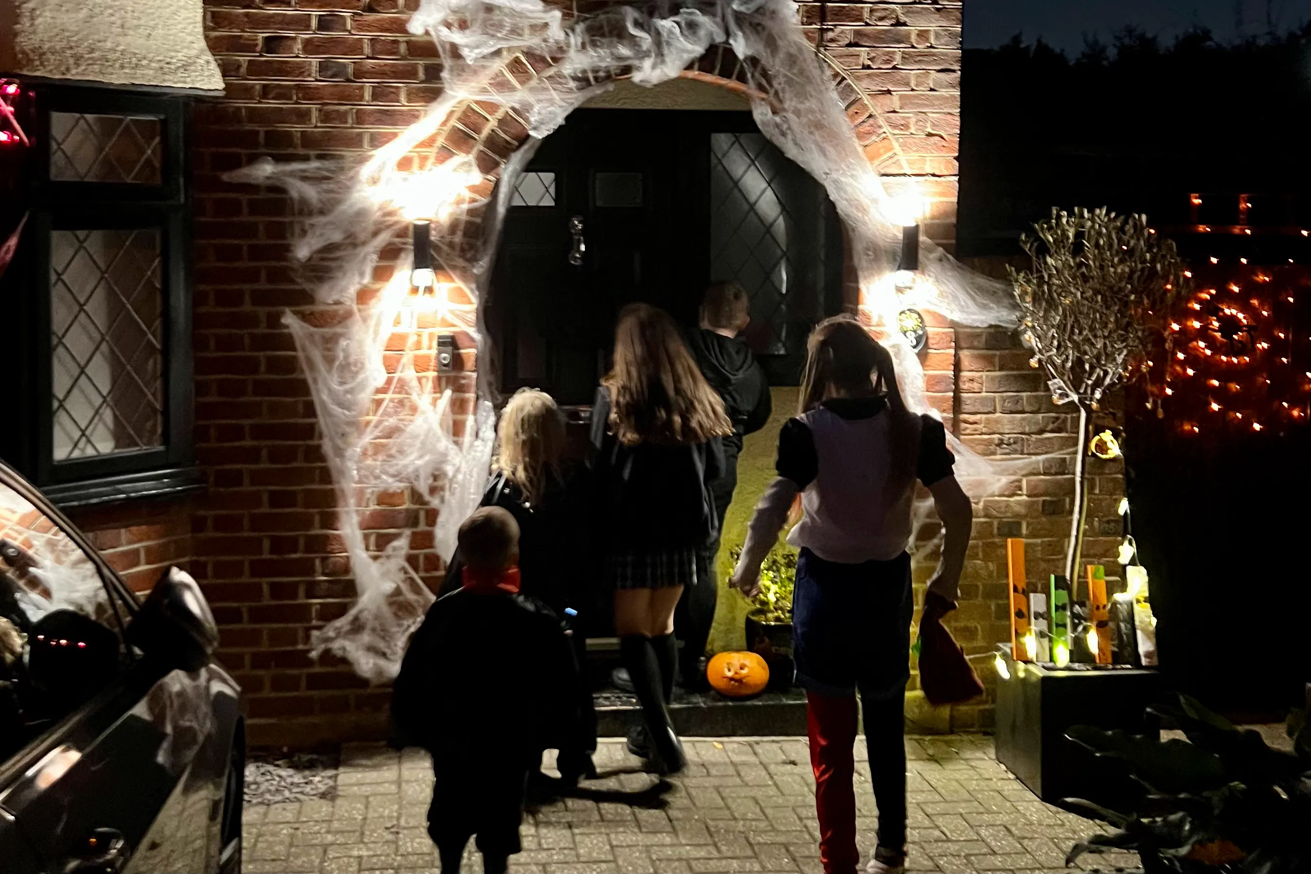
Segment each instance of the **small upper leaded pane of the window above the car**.
M159 118L51 113L50 178L159 185L160 130Z

